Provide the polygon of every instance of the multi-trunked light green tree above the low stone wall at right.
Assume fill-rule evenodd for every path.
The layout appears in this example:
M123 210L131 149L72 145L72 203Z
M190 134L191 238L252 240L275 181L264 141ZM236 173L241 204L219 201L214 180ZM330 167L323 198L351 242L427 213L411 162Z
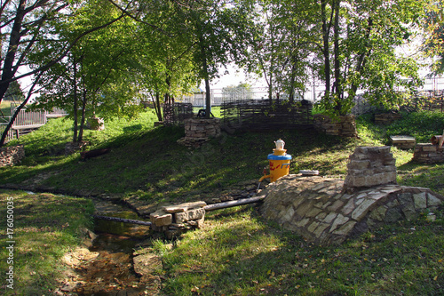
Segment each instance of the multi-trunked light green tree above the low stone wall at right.
M424 1L321 0L319 5L323 106L343 116L361 89L373 104L399 108L397 89L413 90L420 79L416 61L396 50L414 35Z

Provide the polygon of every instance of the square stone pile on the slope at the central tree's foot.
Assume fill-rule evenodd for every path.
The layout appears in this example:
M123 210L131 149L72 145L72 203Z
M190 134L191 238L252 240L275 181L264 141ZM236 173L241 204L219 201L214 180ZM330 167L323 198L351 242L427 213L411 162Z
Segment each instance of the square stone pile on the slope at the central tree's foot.
M189 118L185 120L185 137L178 140L186 147L200 147L210 138L220 135L219 118Z

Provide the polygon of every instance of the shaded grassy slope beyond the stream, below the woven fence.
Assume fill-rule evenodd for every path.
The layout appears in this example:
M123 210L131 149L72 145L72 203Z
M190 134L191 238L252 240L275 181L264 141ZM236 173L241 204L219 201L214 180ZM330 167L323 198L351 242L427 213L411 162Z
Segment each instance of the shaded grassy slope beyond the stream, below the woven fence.
M91 148L112 150L80 162L78 154L63 155L64 145L71 138L70 122L52 120L20 138L27 158L22 165L0 169L0 184L39 184L78 195L113 192L147 199L192 200L200 194L218 194L242 180L260 178L267 165L266 156L279 138L286 141L293 156L290 172L313 169L322 175L344 175L348 156L357 145L382 143L370 130L365 131L362 140L338 139L312 131L234 132L202 148L188 149L176 143L184 136L183 129L153 129L154 121L154 114L147 112L136 121L110 122L105 132L87 131L85 139L91 141ZM406 152L394 152L398 164L411 158Z

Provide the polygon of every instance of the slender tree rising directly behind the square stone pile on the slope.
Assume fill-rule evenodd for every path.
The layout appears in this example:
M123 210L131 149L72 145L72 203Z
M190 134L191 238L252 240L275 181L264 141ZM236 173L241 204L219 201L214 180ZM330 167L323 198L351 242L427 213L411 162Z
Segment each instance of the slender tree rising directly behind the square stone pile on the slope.
M205 116L210 117L210 80L218 77L219 68L238 60L245 49L241 41L249 30L252 2L211 0L189 1L181 6L184 29L194 45L194 64L205 83Z

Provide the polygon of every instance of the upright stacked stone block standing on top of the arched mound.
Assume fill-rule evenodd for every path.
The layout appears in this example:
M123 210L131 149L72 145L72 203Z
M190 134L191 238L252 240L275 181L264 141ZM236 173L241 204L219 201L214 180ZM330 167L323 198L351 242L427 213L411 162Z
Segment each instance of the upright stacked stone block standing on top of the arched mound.
M390 146L358 147L349 159L344 191L396 184L396 161L390 153Z

